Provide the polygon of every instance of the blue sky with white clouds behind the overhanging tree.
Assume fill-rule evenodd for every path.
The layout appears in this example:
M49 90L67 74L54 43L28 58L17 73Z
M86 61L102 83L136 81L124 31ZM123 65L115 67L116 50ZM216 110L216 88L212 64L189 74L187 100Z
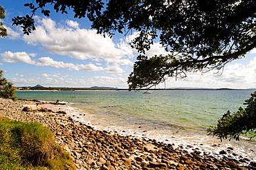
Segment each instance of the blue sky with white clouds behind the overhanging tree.
M50 17L37 12L36 28L32 34L23 34L19 26L12 26L12 18L30 14L24 3L30 0L1 1L6 18L1 19L8 30L0 38L0 70L15 87L118 87L128 88L127 77L133 71L138 53L129 42L138 32L126 36L116 33L112 39L104 38L90 29L87 19L74 19L72 12L56 13ZM148 56L166 54L155 42ZM256 88L256 49L246 57L228 63L217 72L188 73L187 78L168 78L156 88Z

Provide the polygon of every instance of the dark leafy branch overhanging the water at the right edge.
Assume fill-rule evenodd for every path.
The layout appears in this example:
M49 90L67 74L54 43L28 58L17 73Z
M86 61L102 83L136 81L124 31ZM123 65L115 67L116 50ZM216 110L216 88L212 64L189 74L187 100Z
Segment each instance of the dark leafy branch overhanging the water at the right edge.
M231 114L227 111L222 118L218 120L217 127L207 129L208 133L217 136L219 139L235 138L250 134L250 138L256 136L256 92L251 94L248 100L245 100L245 109L240 107L238 111Z

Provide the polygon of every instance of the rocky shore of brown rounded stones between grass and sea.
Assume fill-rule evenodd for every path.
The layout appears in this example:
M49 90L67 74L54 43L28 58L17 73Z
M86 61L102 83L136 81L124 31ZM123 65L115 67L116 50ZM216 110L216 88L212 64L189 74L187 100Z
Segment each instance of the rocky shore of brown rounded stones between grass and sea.
M235 160L223 156L219 160L206 153L202 155L196 148L188 153L156 140L99 131L66 114L62 110L64 105L44 103L36 107L35 101L13 102L2 98L0 101L1 116L37 121L55 131L56 142L71 153L77 169L256 169L255 162L246 158ZM30 111L22 111L24 107L30 107ZM38 111L41 107L55 113Z

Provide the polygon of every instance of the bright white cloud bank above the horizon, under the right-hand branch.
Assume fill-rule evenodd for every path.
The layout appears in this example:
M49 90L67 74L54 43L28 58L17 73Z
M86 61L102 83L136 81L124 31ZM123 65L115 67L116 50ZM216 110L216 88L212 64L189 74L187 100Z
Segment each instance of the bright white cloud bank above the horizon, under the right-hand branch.
M255 88L256 86L256 56L250 63L229 63L222 70L212 70L210 72L192 72L187 74L187 78L168 78L167 87L208 87L208 88ZM160 85L163 87L163 85Z

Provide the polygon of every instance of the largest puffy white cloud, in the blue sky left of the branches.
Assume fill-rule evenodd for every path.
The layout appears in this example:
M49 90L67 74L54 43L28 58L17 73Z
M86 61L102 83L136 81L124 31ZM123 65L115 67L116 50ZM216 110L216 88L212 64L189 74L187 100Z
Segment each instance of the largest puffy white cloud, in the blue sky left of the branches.
M96 30L78 28L75 21L68 20L66 26L57 26L51 19L35 18L40 25L30 36L23 36L23 39L30 45L42 45L44 51L80 60L103 59L109 63L133 56L133 50L127 43L121 41L116 45L109 37L96 34Z

